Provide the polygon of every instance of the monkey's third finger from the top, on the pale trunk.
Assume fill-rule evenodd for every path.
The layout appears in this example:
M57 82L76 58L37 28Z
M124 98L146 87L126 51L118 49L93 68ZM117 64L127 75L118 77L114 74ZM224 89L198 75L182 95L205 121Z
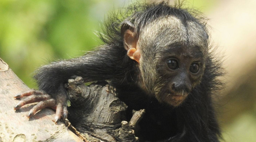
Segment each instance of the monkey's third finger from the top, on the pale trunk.
M52 107L55 106L56 102L54 99L49 99L49 100L43 100L41 102L39 102L38 104L36 104L32 109L30 109L27 117L30 118L31 116L33 116L37 111L44 109L46 107Z

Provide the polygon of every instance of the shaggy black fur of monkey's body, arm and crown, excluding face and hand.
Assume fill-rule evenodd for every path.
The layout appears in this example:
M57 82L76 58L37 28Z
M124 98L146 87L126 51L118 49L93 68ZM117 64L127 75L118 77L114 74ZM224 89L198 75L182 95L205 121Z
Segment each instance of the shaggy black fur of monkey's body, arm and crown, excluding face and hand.
M65 92L60 85L73 75L82 76L88 82L107 80L117 88L120 99L128 105L128 119L132 109L146 109L146 115L140 122L138 137L141 141L218 142L221 133L211 95L222 85L217 77L223 73L220 61L215 59L213 53L209 52L206 57L201 83L180 106L171 107L159 103L137 86L137 76L140 73L138 64L126 55L121 38L120 26L123 21L133 23L139 36L141 28L157 17L166 15L178 17L183 23L197 22L207 33L206 20L201 14L193 12L191 15L188 11L182 9L181 5L169 6L168 2L135 3L124 13L112 14L106 22L103 34L99 35L104 45L83 57L41 67L35 75L39 89L54 97L58 92Z

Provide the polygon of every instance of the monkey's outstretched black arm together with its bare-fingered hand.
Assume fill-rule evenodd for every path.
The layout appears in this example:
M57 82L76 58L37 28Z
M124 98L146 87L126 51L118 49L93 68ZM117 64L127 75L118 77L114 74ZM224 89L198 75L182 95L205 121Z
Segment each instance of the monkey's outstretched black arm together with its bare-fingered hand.
M55 123L61 117L65 119L67 118L67 94L64 84L68 79L72 76L82 76L86 82L89 82L123 76L120 59L124 55L124 49L113 50L111 47L104 47L79 58L52 62L41 67L34 76L39 85L39 91L32 90L15 95L14 98L22 98L22 101L14 107L14 110L26 104L39 102L29 111L29 118L36 111L51 107L56 109ZM23 98L25 96L26 98Z

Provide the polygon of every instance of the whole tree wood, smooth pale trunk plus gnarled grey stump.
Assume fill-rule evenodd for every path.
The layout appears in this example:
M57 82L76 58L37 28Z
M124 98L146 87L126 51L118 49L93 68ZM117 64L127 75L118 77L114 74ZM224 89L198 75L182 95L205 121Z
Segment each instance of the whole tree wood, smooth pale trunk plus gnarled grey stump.
M54 124L55 112L45 108L31 118L28 104L14 111L19 102L15 94L30 90L0 58L0 142L66 141L66 142L138 142L135 137L138 122L145 110L134 111L127 122L126 104L121 102L115 88L107 82L84 84L81 77L65 84L71 105L63 122ZM134 131L135 130L135 131Z

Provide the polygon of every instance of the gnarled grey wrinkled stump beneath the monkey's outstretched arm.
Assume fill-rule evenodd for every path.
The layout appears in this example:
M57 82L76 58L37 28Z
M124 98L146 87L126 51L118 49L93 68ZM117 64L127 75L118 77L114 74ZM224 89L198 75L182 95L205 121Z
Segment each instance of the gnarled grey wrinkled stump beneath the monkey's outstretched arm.
M68 80L66 88L71 100L68 119L80 135L95 142L138 141L133 129L145 110L134 111L132 119L127 122L127 106L107 82L86 86L83 79L77 77Z

